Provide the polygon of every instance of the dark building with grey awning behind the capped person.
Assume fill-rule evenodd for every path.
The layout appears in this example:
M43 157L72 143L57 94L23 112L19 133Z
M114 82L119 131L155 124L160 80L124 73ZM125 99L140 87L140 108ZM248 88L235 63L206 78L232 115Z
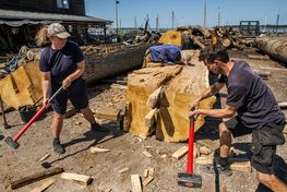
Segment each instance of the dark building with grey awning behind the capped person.
M17 51L21 46L35 47L35 35L43 26L59 22L80 45L93 39L88 28L103 28L112 22L85 15L84 0L1 0L0 50Z

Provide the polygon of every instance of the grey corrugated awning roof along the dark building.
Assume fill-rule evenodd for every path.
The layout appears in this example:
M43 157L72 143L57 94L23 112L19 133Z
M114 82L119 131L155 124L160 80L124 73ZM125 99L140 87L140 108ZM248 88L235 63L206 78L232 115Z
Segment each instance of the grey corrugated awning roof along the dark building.
M0 19L1 20L31 20L31 21L50 20L50 21L63 21L63 22L88 22L88 23L106 23L106 24L112 23L112 21L93 17L93 16L12 11L12 10L2 10L2 9L0 9Z

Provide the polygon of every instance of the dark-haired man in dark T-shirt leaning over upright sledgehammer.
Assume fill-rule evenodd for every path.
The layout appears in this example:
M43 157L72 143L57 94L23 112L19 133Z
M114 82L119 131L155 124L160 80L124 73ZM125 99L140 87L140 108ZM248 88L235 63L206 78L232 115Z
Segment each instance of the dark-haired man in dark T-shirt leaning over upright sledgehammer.
M200 60L210 71L222 76L193 100L191 108L194 109L200 100L215 95L225 85L227 86L226 107L191 110L189 117L203 115L231 118L219 124L220 158L219 161L215 161L215 166L208 166L207 171L215 172L216 168L219 172L230 176L232 172L229 168L228 155L231 135L252 133L251 164L258 171L258 180L273 191L287 191L286 183L274 175L276 146L285 143L282 131L286 122L271 89L259 75L254 74L247 62L229 60L227 50L220 45L203 49Z

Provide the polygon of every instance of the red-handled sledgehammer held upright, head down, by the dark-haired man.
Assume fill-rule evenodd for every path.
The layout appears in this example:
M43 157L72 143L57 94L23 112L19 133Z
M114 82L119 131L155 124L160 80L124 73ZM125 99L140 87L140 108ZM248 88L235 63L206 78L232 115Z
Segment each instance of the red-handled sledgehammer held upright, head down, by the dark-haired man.
M188 188L201 188L201 176L193 175L193 142L194 142L194 118L190 119L189 151L187 172L178 173L178 184Z

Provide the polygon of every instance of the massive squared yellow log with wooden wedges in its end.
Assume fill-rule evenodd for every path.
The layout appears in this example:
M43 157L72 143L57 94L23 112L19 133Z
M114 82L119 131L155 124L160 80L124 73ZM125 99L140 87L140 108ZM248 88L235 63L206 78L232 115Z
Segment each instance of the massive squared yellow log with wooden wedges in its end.
M189 109L192 100L208 85L208 71L198 58L192 65L144 68L128 76L127 106L123 129L147 137L155 133L165 142L181 142L189 137ZM200 103L212 108L215 98ZM199 116L195 131L204 124Z

